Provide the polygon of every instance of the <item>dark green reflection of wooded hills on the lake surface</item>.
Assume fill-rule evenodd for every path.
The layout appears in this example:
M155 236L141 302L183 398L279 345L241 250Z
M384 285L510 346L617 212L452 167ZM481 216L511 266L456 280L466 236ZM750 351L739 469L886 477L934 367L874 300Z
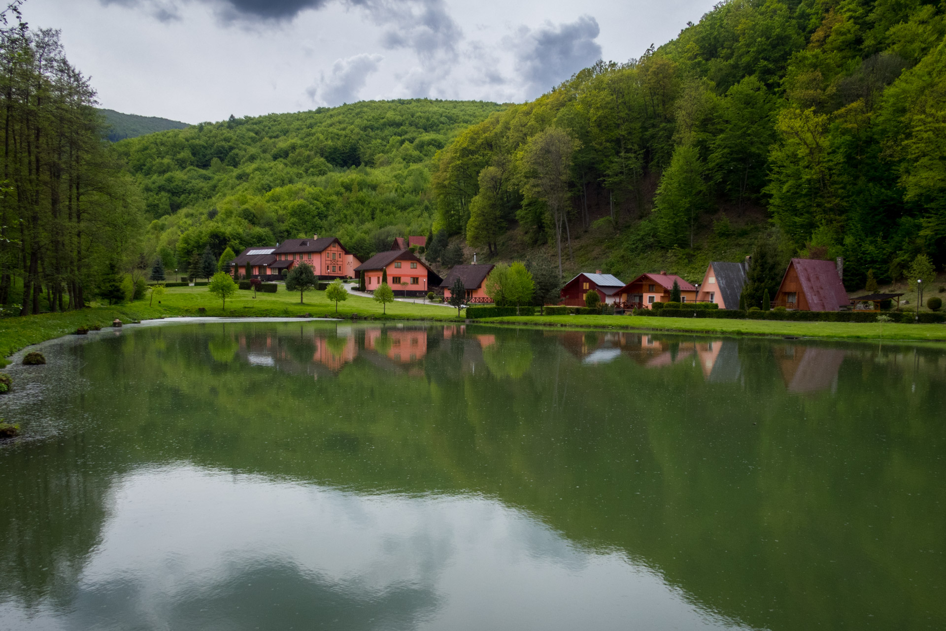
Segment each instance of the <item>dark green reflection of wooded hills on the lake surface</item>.
M285 347L287 356L307 344L298 330L253 326L236 339ZM935 420L946 393L940 353L753 339L710 347L692 336L611 333L599 334L597 347L580 333L575 353L548 331L467 329L448 339L442 327L429 329L423 378L359 359L317 384L244 362L211 366L201 359L206 338L184 327L88 344L83 377L93 387L84 409L117 397L130 412L114 419L96 440L104 447L73 475L89 486L96 480L88 471L114 453L134 453L141 462L186 460L356 489L480 492L523 507L578 545L625 551L694 602L753 626L946 620L946 585L930 561L943 553L946 522L946 446ZM487 332L496 343L483 348L476 336ZM308 330L310 340L319 335ZM134 353L116 352L128 344ZM604 344L624 355L581 363L581 349ZM674 344L675 361L646 367L662 353L669 358ZM842 349L847 360L832 369L835 391L798 397L780 361L789 349L802 357L810 348L832 357ZM692 361L681 360L685 352ZM517 358L526 356L524 370L506 367L525 365ZM727 369L716 373L720 366ZM208 396L210 387L219 395ZM902 413L890 413L894 404ZM44 462L17 466L38 477ZM103 493L55 505L88 504L85 529L97 531ZM30 527L34 509L9 505ZM65 537L67 517L35 512L61 533L40 548L78 566L97 535ZM2 545L5 567L22 584L57 556L21 563L21 552ZM32 585L26 591L35 594L45 584ZM920 611L928 612L922 620Z

